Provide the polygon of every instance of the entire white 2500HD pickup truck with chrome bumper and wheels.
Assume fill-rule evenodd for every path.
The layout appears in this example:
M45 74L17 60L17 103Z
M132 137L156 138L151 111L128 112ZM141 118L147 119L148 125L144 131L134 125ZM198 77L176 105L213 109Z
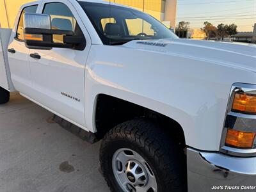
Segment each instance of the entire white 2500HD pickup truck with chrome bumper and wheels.
M90 0L25 4L0 35L0 103L17 91L102 140L111 191L256 189L255 45L182 40Z

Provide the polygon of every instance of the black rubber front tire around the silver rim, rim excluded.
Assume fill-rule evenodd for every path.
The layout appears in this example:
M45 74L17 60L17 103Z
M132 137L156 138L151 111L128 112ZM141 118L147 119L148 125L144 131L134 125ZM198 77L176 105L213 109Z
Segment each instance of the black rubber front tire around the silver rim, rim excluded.
M113 155L120 148L134 150L147 161L156 176L158 192L187 190L184 151L157 123L138 118L117 125L102 141L100 165L111 191L123 191L112 168Z

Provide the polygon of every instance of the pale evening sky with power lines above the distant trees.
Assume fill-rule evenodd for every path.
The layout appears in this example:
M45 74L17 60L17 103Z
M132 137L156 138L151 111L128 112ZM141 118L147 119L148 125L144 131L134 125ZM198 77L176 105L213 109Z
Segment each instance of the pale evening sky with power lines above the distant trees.
M237 31L253 31L256 0L177 0L177 23L190 22L190 28L202 28L204 21L236 24Z

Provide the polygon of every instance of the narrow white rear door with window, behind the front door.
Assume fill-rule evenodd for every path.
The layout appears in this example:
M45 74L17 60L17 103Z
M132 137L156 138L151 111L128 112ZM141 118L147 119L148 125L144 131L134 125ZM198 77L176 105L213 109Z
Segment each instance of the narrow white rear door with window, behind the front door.
M31 4L22 9L19 13L19 22L15 31L12 32L8 46L8 60L12 75L12 82L16 90L30 95L31 75L29 69L29 49L24 44L23 15L24 13L36 13L38 4Z

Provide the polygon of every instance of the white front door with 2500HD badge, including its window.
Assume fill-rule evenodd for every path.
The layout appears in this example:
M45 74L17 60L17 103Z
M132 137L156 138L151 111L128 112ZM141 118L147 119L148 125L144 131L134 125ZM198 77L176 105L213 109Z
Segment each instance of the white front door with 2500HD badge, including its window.
M40 13L51 16L52 29L84 35L86 46L82 51L67 48L31 49L29 63L33 99L73 124L84 127L84 76L90 36L69 1L45 0L41 9ZM61 36L54 36L54 42L58 41L61 41Z

